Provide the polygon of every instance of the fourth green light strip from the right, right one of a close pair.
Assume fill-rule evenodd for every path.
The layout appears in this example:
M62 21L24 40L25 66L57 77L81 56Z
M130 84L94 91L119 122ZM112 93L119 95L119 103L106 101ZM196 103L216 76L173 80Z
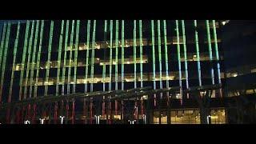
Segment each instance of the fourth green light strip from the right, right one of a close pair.
M185 58L185 77L186 77L186 89L189 88L189 74L187 70L187 58L186 58L186 30L185 30L185 23L182 20L182 37L183 37L183 51L184 51L184 58Z

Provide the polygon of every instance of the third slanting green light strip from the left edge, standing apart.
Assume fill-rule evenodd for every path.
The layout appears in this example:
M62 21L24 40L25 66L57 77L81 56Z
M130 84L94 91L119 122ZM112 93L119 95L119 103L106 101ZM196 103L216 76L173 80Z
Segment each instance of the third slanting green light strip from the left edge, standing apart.
M12 93L13 93L14 70L15 70L15 65L16 65L16 54L17 54L17 47L18 47L19 30L20 30L20 22L18 21L16 38L15 38L15 42L14 42L14 59L13 59L13 65L12 65L12 70L11 70L8 102L11 102L11 96L12 96Z

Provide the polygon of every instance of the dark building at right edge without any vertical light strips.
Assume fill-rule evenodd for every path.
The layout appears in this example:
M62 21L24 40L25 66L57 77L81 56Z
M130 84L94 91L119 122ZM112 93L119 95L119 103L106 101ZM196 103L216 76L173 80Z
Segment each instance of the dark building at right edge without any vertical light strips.
M225 95L233 98L227 109L229 123L255 123L255 21L223 23L222 47Z

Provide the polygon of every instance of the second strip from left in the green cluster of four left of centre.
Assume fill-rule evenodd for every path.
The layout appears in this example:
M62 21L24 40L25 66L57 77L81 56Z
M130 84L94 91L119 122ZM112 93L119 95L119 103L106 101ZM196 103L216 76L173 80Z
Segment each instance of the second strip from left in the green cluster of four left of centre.
M69 38L69 27L70 27L70 21L66 20L66 31L65 31L65 44L64 44L64 58L63 58L63 63L64 66L62 68L62 95L65 94L65 74L66 74L66 51L67 51L67 41Z

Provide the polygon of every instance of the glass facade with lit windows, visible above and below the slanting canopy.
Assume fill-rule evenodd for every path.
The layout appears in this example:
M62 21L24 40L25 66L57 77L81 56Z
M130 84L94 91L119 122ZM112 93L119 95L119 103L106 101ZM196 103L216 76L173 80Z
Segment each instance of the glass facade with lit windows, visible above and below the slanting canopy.
M178 87L174 95L155 94L154 106L158 105L158 98L174 98L182 102L193 95L183 93L185 90L225 81L222 39L218 37L221 27L221 21L215 20L7 22L2 28L0 49L0 102L143 87L152 90ZM222 98L222 93L222 89L214 90L212 97ZM75 113L78 103L88 109L76 118L94 119L95 107L102 109L101 120L124 118L121 114L123 101L115 100L108 106L104 102L90 101L94 98L67 105L70 106L67 111L71 107L73 110L68 113L73 114L72 122L78 114ZM135 119L143 120L146 102L133 104ZM56 109L60 107L54 106ZM105 109L110 109L111 113L114 110L113 118L104 114ZM199 111L161 113L161 123L169 123L167 115L170 115L170 123L198 124ZM56 119L58 113L55 110L54 114L46 115ZM226 123L222 111L214 114L217 115L212 115L212 123ZM159 118L159 114L154 114L153 123L159 123Z

